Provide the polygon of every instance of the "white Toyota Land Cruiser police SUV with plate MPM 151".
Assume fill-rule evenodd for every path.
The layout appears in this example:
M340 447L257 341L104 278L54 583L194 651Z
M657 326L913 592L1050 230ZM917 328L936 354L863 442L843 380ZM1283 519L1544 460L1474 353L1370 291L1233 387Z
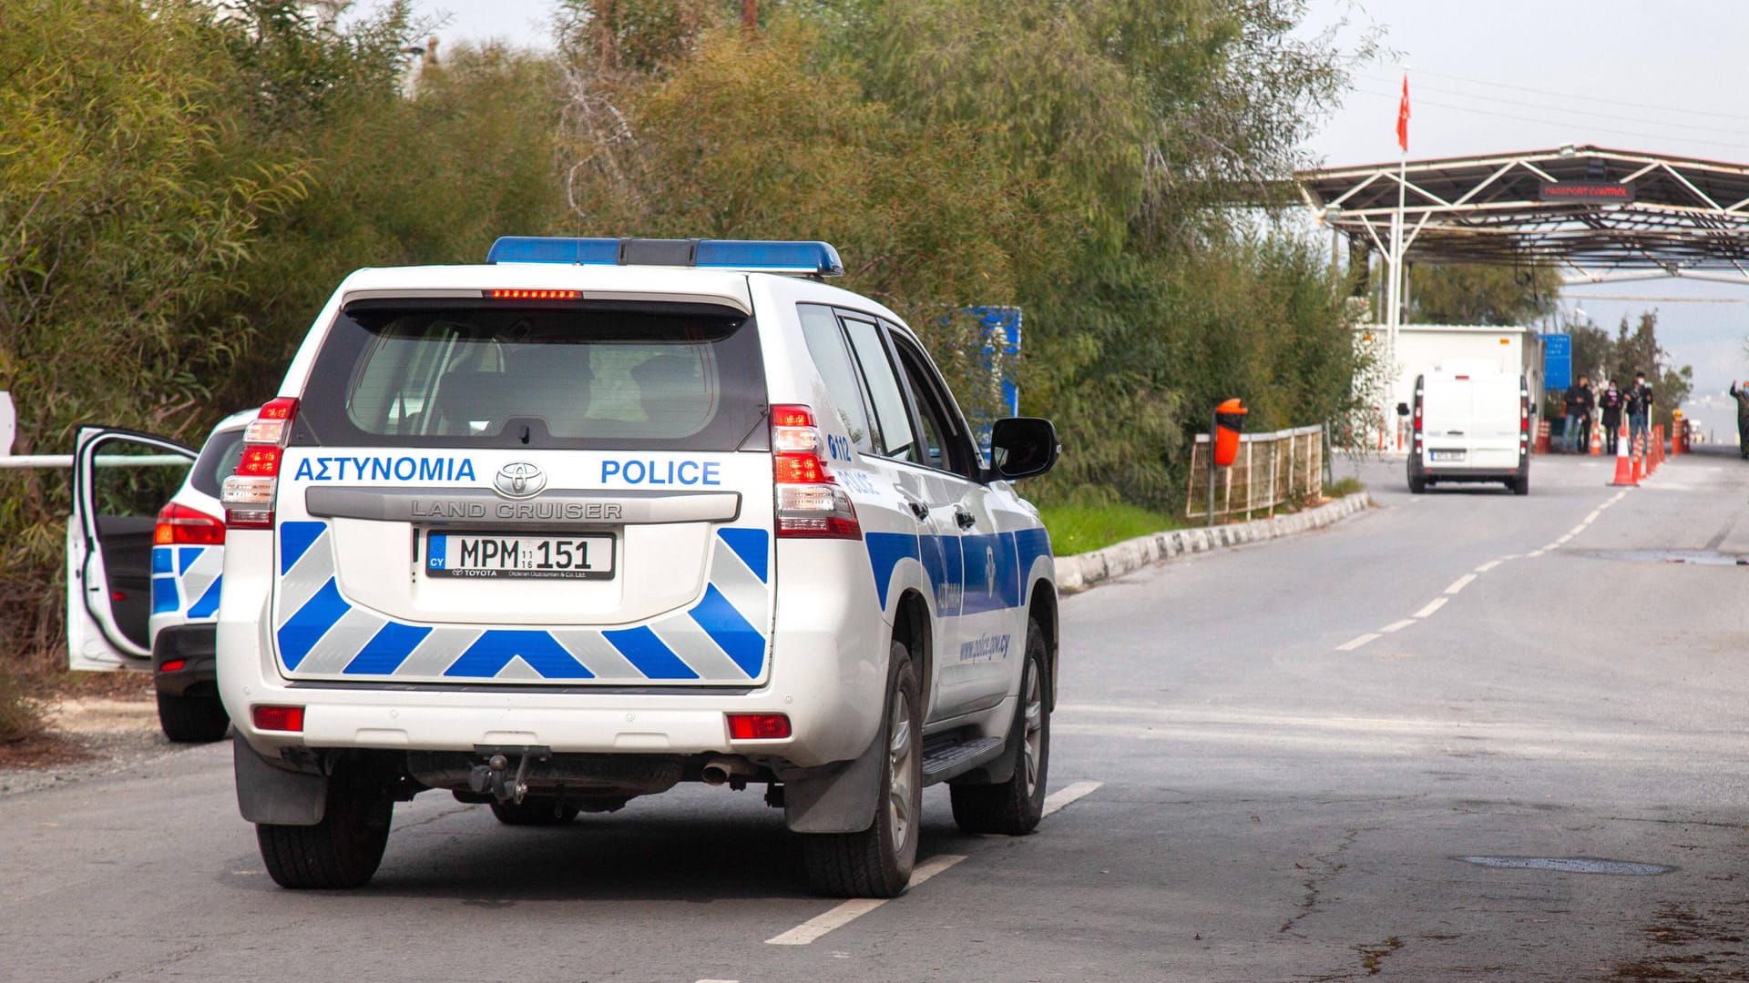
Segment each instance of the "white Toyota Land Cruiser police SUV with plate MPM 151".
M1056 589L916 336L826 243L504 238L348 276L224 483L219 687L285 887L352 887L395 801L507 824L766 785L812 883L892 896L920 791L1044 798Z

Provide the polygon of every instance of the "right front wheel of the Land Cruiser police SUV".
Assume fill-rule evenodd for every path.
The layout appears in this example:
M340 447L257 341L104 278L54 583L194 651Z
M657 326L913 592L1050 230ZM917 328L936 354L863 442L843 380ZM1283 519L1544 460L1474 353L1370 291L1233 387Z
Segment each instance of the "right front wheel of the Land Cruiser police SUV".
M1027 623L1027 665L1009 740L1018 740L1014 775L999 785L951 785L953 822L965 833L1025 836L1044 817L1044 782L1051 764L1051 710L1044 700L1044 633Z

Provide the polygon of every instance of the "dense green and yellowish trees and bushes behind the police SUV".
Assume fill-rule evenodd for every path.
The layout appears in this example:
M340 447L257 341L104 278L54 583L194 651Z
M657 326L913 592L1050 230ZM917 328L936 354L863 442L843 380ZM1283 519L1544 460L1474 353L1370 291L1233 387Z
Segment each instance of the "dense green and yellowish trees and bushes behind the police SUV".
M964 311L1020 306L999 367L1065 446L1028 493L1170 523L1219 399L1259 430L1350 409L1326 247L1279 215L1371 42L1308 37L1305 9L768 0L749 30L724 0L565 0L551 51L420 68L434 24L404 2L320 30L294 0L10 0L14 453L65 453L82 422L199 441L271 395L359 266L507 233L822 238L971 411L995 394ZM0 476L0 673L65 665L65 514L63 474Z

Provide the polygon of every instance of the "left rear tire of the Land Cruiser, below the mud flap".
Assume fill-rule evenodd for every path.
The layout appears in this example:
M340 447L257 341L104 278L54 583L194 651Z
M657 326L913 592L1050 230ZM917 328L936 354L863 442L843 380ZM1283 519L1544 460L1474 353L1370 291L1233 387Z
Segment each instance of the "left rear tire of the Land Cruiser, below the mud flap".
M329 778L327 810L315 826L255 824L268 875L292 890L362 887L383 862L395 803L383 789Z

